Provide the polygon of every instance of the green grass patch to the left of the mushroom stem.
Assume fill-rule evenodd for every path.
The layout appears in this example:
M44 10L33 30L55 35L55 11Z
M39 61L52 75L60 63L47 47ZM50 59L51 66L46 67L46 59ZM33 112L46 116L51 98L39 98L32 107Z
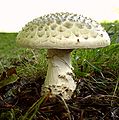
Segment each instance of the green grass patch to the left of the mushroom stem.
M21 75L33 75L43 70L46 72L46 50L34 52L21 48L16 45L16 36L17 33L0 33L0 72L14 66L17 66L17 72Z

